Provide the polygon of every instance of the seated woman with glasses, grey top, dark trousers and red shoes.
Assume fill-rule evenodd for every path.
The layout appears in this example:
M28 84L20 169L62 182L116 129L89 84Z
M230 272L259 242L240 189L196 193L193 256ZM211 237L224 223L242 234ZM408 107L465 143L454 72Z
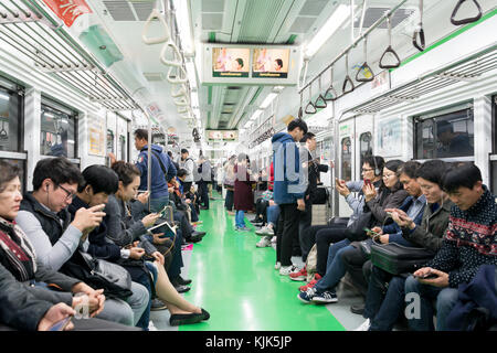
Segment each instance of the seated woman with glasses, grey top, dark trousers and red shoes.
M330 244L340 242L345 238L345 231L351 226L363 212L364 208L364 180L369 180L371 184L379 189L381 186L381 178L384 168L384 160L380 156L368 156L362 163L362 179L360 181L349 181L336 179L335 188L341 196L347 201L347 204L352 210L352 214L348 223L331 223L329 225L315 225L304 232L303 244L307 248L307 253L316 244L317 248L317 277L321 278L326 274L326 263L328 259L328 249ZM358 192L355 196L352 192ZM306 275L295 274L289 276L293 280L305 280ZM303 291L316 285L317 279L313 279L307 286L300 287Z

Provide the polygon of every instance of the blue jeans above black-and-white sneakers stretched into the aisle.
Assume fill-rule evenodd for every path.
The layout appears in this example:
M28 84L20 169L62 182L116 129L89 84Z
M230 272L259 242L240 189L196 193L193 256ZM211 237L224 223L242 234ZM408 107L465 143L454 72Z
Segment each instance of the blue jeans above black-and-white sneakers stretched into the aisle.
M326 275L320 280L318 280L315 286L318 292L322 292L325 290L336 292L336 287L347 272L347 268L341 260L341 253L343 253L348 248L352 248L349 239L340 240L329 247L328 261L326 264Z

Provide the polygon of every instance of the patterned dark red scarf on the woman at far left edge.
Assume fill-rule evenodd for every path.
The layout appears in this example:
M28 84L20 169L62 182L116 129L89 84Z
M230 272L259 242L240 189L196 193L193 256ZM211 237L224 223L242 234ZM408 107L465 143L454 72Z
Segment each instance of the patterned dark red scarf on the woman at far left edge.
M0 248L4 252L7 267L19 281L34 278L36 255L28 236L15 222L0 217Z

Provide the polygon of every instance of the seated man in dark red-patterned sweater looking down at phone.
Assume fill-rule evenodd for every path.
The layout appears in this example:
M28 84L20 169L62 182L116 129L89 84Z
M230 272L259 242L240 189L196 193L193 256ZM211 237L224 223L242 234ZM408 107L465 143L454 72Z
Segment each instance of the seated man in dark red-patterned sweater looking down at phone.
M444 173L442 184L455 203L442 247L433 260L405 281L405 295L417 293L421 298L420 315L408 318L409 327L415 331L434 329L434 299L436 330L445 331L445 319L457 301L458 286L472 281L482 265L497 265L496 197L483 184L478 167L473 163L453 165ZM427 275L436 277L423 279ZM410 302L406 304L409 307Z

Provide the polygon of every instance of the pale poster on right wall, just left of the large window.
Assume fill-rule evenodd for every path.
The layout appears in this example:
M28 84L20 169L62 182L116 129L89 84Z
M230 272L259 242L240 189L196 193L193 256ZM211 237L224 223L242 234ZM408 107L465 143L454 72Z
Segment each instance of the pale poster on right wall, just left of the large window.
M378 122L378 154L383 157L402 154L402 120L384 119Z

